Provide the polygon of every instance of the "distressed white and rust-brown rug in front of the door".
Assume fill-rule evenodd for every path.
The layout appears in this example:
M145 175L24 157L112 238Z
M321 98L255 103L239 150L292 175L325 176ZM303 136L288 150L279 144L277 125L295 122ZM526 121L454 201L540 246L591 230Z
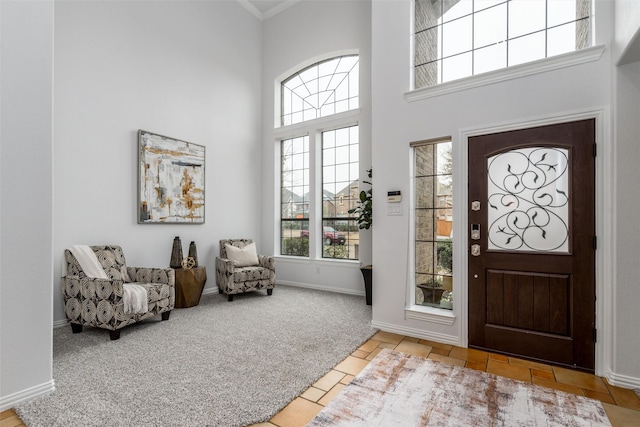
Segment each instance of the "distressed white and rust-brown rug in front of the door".
M597 400L385 349L307 427L610 425Z

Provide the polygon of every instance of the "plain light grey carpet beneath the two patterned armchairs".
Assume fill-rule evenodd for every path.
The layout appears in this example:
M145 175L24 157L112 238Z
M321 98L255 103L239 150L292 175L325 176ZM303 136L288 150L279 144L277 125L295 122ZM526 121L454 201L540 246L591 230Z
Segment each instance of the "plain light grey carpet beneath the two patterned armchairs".
M168 321L53 333L50 395L28 426L246 426L266 421L377 330L364 297L276 286L204 295Z

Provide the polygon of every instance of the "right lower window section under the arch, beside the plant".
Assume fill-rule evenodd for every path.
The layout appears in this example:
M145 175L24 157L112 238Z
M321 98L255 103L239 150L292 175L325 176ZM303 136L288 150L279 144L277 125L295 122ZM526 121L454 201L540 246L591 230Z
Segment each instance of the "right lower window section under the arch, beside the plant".
M322 256L358 259L358 126L322 132Z

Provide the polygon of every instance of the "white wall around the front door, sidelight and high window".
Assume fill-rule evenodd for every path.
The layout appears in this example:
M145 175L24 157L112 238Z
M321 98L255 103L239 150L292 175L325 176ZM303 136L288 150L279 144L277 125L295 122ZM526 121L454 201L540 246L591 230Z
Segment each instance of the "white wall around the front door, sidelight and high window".
M407 263L410 209L409 143L451 136L457 151L463 148L461 132L502 124L518 124L538 118L553 118L571 112L601 110L610 107L612 38L612 3L597 2L597 41L605 44L602 57L588 62L500 83L461 90L455 93L408 102L404 93L410 89L411 1L375 1L372 10L372 99L373 99L373 168L374 185L379 195L401 190L402 216L388 216L387 206L378 197L374 205L376 224L373 230L373 320L378 327L465 344L466 336L460 314L466 306L458 300L457 319L453 325L405 318L407 284L411 283ZM607 127L610 117L601 123ZM599 141L601 152L610 149L611 138L604 132ZM462 161L460 161L462 160ZM610 161L610 159L607 159ZM455 160L454 160L455 162ZM462 169L461 169L462 168ZM603 171L600 170L599 173ZM457 159L454 173L458 182L454 204L466 209L462 197L466 187L466 160ZM456 190L454 190L456 191ZM603 206L599 209L602 211ZM465 230L458 224L454 233ZM464 231L463 234L466 235ZM457 234L457 236L459 236ZM466 244L454 248L454 288L466 288L462 253ZM459 294L458 294L459 295ZM636 373L640 377L640 372Z

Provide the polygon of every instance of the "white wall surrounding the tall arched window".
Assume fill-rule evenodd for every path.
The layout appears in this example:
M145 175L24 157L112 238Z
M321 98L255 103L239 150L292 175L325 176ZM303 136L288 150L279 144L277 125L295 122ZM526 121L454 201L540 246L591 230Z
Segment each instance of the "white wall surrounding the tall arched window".
M288 77L303 63L311 65L315 61L309 61L314 58L332 52L358 51L360 114L356 119L360 127L360 175L366 179L366 170L371 166L370 35L371 2L366 0L304 1L264 22L262 189L267 197L262 212L262 241L276 254L280 251L279 190L276 188L280 153L274 136L276 80ZM360 239L360 261L370 264L371 232L361 232ZM279 282L364 295L359 262L279 257L277 264Z

